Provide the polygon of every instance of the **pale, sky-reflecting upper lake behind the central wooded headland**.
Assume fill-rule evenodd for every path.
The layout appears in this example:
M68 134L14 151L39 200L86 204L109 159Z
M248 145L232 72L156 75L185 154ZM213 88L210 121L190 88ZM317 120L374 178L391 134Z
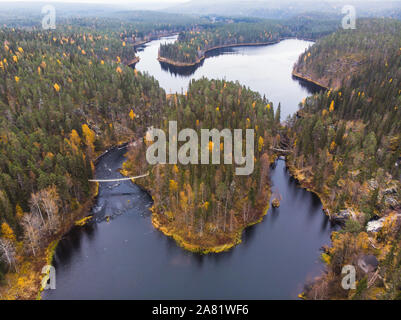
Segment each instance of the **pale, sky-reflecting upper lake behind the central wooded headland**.
M198 67L174 68L156 59L160 43L171 43L177 36L152 41L138 48L136 69L154 76L167 93L181 93L190 79L226 79L258 91L277 106L281 103L281 119L293 115L303 98L316 88L292 77L298 57L313 44L297 39L284 40L268 46L246 46L218 49L207 53Z

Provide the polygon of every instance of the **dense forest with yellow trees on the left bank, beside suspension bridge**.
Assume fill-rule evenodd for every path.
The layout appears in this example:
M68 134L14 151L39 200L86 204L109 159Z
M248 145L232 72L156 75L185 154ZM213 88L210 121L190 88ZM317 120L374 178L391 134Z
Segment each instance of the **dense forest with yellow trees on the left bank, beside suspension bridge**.
M134 51L113 34L3 28L0 43L3 279L85 207L96 156L146 129L165 93L122 63Z

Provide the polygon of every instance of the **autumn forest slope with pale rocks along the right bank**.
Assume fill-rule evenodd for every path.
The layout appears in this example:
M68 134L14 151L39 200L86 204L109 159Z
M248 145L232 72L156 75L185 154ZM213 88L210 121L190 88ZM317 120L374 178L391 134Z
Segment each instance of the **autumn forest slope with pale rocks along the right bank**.
M309 298L398 298L400 295L401 23L360 20L319 40L295 72L336 90L309 97L288 128L288 165L315 190L334 220L345 223L323 254L327 274ZM381 220L377 220L382 218ZM374 227L375 226L375 227ZM379 260L341 288L341 266L360 255Z

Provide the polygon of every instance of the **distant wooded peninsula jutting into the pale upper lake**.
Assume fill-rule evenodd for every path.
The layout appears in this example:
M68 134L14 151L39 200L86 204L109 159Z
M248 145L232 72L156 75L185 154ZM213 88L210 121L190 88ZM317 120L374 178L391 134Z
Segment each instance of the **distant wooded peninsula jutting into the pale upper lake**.
M256 20L256 19L255 19ZM338 20L320 20L299 16L289 21L259 20L225 23L203 29L180 32L178 41L160 45L160 60L170 63L194 64L213 48L241 45L268 44L283 38L316 39L333 32Z

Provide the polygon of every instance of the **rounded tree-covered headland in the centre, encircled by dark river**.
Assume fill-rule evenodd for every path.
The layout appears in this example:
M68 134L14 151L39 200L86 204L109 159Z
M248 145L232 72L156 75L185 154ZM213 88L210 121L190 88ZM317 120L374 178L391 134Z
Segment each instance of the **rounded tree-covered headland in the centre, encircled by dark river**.
M201 129L243 128L244 145L245 129L255 129L255 164L251 175L236 175L234 161L224 164L227 147L222 138L219 142L210 139L207 146L209 151L214 147L221 151L219 165L199 160L199 164L149 167L145 154L150 142L145 137L128 153L124 170L130 176L151 172L137 183L152 194L154 226L191 251L219 252L237 244L242 230L266 213L269 166L274 159L270 147L278 143L279 112L275 115L272 103L239 83L205 78L193 81L185 95L170 96L167 113L156 127L168 132L167 121L174 120L178 130L194 129L199 157Z

